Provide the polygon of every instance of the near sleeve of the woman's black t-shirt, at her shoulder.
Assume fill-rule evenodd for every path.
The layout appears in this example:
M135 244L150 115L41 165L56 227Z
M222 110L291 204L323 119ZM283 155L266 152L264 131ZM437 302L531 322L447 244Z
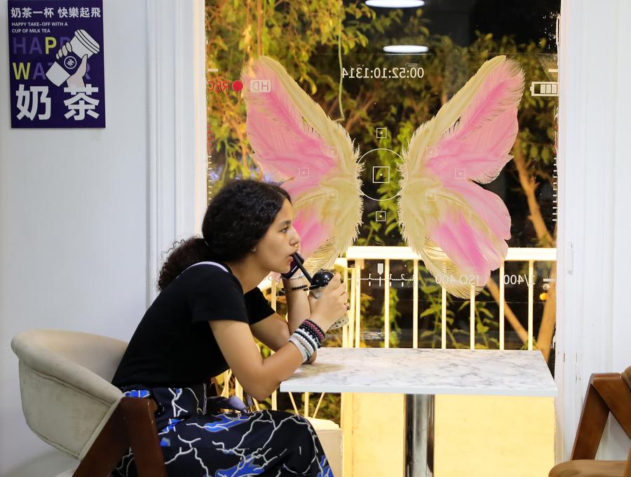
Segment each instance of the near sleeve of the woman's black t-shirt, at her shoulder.
M191 274L189 306L191 322L233 319L249 323L245 297L238 279L215 265L196 265Z

